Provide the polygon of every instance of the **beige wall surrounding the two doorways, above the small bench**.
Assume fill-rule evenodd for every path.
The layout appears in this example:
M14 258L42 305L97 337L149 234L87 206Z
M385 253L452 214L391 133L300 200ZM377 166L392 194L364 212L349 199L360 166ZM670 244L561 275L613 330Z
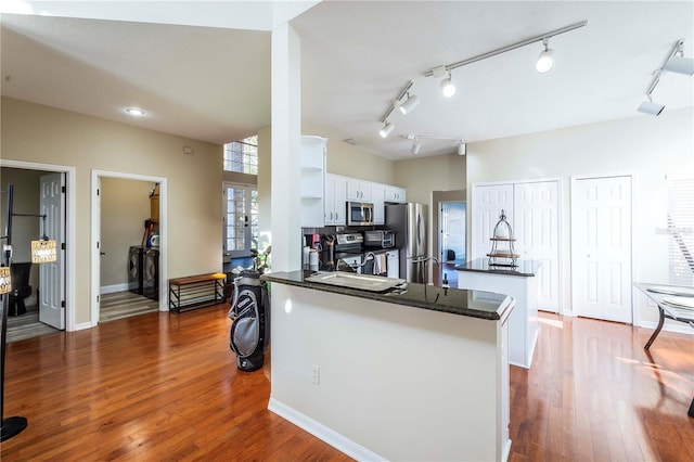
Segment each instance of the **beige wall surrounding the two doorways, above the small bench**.
M75 167L77 325L90 321L92 169L167 179L169 278L221 269L222 146L7 98L1 116L3 159Z

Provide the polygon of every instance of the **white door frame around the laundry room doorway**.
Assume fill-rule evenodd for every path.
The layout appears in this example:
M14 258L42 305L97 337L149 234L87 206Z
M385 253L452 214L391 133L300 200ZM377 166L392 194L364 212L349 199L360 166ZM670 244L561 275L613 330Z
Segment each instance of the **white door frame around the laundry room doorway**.
M91 170L91 293L90 313L91 326L99 324L99 307L101 295L101 265L100 248L101 241L101 201L97 200L99 183L101 178L119 178L125 180L147 181L159 183L159 311L168 311L168 243L167 227L167 179L165 177L152 177L147 175L125 174L120 171Z

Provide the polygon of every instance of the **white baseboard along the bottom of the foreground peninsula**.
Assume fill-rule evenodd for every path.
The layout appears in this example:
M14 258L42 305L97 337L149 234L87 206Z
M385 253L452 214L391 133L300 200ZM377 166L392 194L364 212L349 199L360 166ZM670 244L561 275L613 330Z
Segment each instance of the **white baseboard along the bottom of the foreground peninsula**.
M334 429L326 427L322 423L314 421L308 415L300 413L296 409L272 397L270 397L270 401L268 402L268 409L352 459L358 461L386 461L386 459L375 452L370 451L363 446L358 445Z

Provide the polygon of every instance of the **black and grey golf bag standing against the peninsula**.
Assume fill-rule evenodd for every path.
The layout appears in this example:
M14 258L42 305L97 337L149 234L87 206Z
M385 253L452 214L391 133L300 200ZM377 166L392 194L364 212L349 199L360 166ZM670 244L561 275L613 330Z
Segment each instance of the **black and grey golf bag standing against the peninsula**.
M229 309L233 321L229 347L236 354L236 367L250 372L262 367L270 344L270 297L260 272L245 270L234 279L234 297Z

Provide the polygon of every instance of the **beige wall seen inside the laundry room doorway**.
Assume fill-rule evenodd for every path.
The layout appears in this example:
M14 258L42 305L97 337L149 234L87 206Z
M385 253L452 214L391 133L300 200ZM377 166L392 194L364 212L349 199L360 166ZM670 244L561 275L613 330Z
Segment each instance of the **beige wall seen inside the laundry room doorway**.
M155 183L121 178L101 179L101 287L128 283L128 252L142 245Z

